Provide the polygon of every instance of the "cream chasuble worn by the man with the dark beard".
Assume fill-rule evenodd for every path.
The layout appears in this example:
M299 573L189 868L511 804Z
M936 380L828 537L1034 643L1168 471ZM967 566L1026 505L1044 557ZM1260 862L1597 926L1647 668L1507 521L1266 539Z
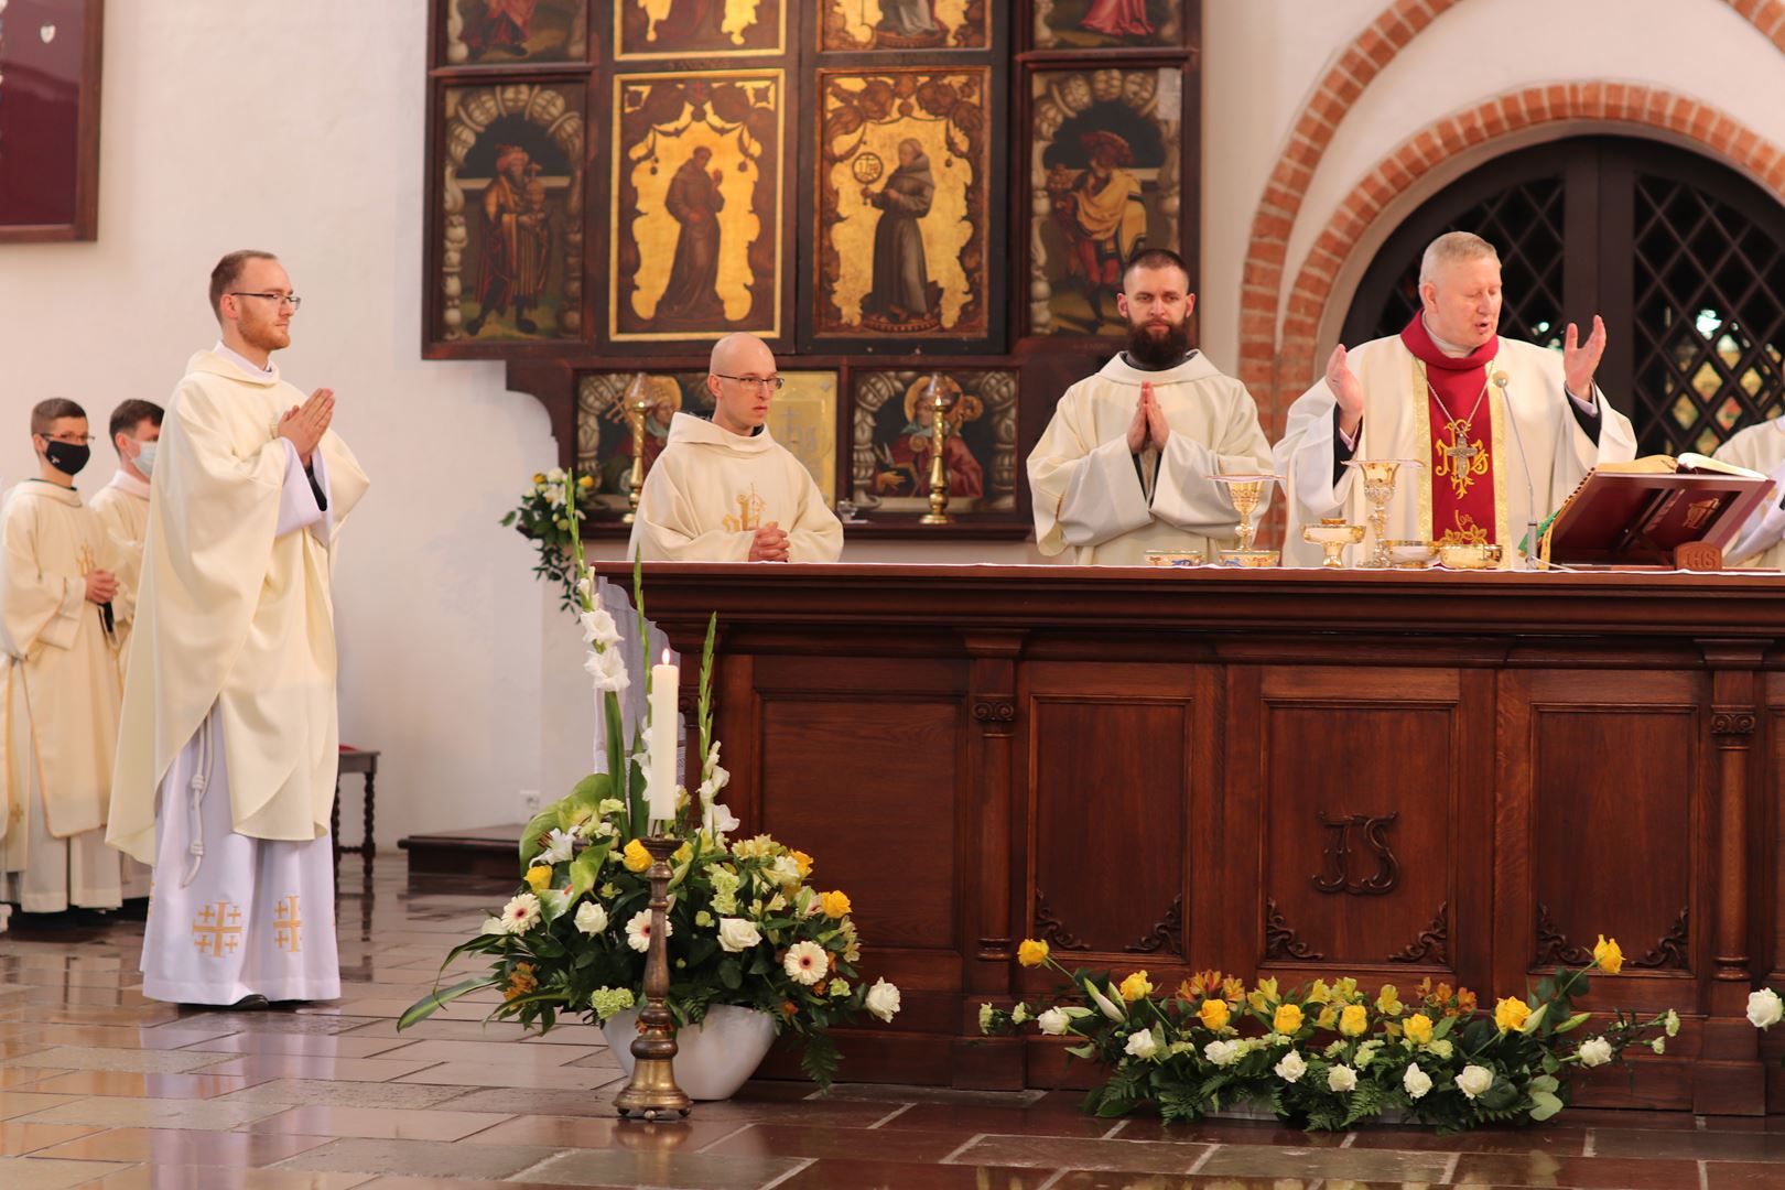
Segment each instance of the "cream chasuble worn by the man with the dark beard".
M1171 435L1164 451L1148 444L1133 455L1128 426L1148 382ZM1269 469L1251 394L1201 351L1160 371L1117 355L1060 396L1028 457L1035 544L1078 566L1146 566L1151 550L1198 550L1216 562L1235 544L1239 514L1210 476Z

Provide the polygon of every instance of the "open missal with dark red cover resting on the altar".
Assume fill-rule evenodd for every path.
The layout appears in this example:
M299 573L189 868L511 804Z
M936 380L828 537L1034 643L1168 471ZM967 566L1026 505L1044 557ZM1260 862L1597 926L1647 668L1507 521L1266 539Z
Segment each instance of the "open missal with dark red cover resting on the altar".
M1723 569L1730 544L1773 480L1705 455L1648 455L1594 467L1544 526L1557 566Z

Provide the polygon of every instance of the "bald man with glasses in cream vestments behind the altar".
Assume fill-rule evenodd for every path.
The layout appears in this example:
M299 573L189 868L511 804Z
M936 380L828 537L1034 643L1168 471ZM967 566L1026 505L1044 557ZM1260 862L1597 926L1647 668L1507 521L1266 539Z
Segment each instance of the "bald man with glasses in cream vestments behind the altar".
M677 414L644 476L628 555L659 562L835 562L843 523L805 466L769 437L782 378L762 339L712 348L712 419Z

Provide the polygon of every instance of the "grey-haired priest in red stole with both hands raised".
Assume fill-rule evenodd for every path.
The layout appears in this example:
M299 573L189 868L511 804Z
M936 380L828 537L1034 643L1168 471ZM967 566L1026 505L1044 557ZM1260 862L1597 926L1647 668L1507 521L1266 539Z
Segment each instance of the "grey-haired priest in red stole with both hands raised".
M1274 451L1289 487L1289 566L1321 560L1303 526L1367 523L1351 459L1424 464L1396 476L1391 539L1494 542L1510 566L1526 526L1562 507L1587 471L1635 457L1630 419L1592 382L1605 353L1598 316L1585 343L1569 323L1560 353L1501 339L1499 253L1469 232L1426 248L1419 300L1401 334L1335 348L1326 375L1289 407Z

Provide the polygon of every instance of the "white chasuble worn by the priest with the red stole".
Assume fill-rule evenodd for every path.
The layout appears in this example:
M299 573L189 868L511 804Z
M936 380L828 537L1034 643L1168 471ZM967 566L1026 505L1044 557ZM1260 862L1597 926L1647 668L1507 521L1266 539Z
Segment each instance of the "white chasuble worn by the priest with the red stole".
M1426 464L1401 467L1396 476L1389 537L1432 541L1437 537L1432 525L1433 435L1424 368L1399 335L1371 339L1346 355L1364 387L1364 425L1351 459L1414 459ZM1569 410L1560 351L1501 337L1487 373L1507 376L1505 387L1487 385L1483 403L1494 460L1492 541L1505 546L1501 566L1510 567L1528 521L1540 521L1560 508L1599 462L1635 459L1637 435L1630 419L1594 389L1599 441L1594 444L1587 437ZM1317 525L1321 517L1369 525L1369 501L1357 467L1335 466L1335 409L1332 389L1321 378L1289 407L1289 430L1274 450L1276 471L1289 489L1285 566L1321 564L1321 548L1301 539L1303 526ZM1444 478L1437 476L1437 482ZM1374 535L1366 528L1360 548L1367 551L1373 546Z

